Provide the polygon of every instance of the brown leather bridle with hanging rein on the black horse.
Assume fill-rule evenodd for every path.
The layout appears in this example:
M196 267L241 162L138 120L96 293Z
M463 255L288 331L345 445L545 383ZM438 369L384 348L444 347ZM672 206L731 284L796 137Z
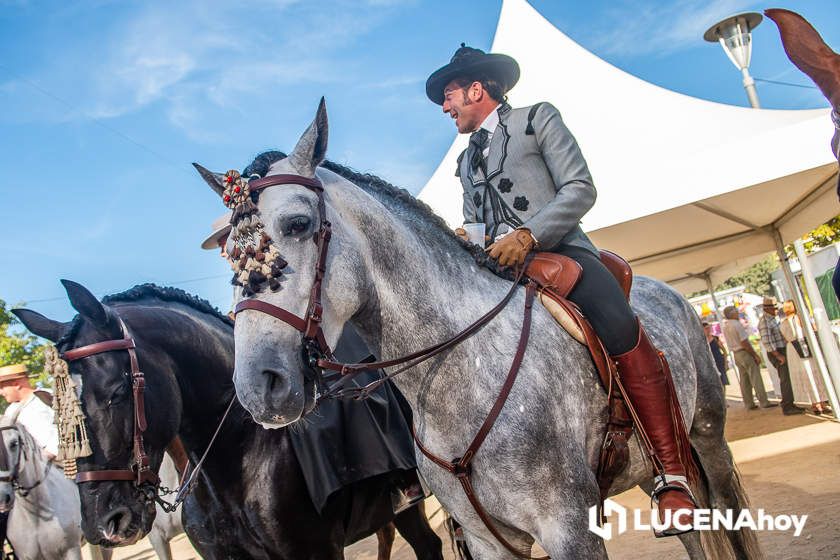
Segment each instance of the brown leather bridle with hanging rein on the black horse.
M126 350L128 352L128 357L131 362L131 385L132 392L134 394L134 458L127 469L102 469L77 473L76 483L130 481L134 482L137 487L141 487L146 484L148 488L148 485L151 485L151 491L144 492L144 494L148 498L157 501L165 511L172 512L178 508L181 502L183 502L187 498L187 495L189 495L192 491L193 486L198 479L198 474L201 472L201 468L204 465L204 460L207 458L207 454L210 453L210 449L213 447L213 443L216 441L216 437L219 435L222 425L225 423L231 408L233 408L236 395L234 394L231 398L224 415L222 415L222 419L219 421L219 425L216 427L216 431L210 438L210 442L207 444L207 448L204 450L204 453L195 468L190 471L188 468L189 466L187 467L187 472L182 474L182 481L178 488L174 490L161 488L160 478L154 471L151 470L149 456L146 454L146 450L143 445L143 433L147 428L144 400L146 377L140 370L140 364L137 360L137 346L134 343L134 339L129 334L128 327L125 322L123 322L122 318L119 316L117 316L117 318L120 323L120 330L123 335L122 338L104 340L102 342L95 342L86 346L80 346L79 348L73 348L72 350L67 350L62 353L61 358L66 362L74 362L76 360L81 360L82 358L102 354L103 352L113 352L116 350ZM158 494L158 488L169 494L174 493L175 499L171 503L167 502Z

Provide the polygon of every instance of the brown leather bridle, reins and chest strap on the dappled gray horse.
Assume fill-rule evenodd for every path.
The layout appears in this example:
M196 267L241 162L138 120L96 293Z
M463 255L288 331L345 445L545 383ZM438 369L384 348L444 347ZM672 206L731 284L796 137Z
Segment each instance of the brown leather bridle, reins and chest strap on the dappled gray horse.
M315 379L316 389L325 389L325 392L323 394L319 394L318 401L327 398L342 397L354 397L356 399L366 398L370 395L370 393L373 390L385 383L388 379L391 379L396 375L399 375L400 373L411 369L414 366L434 356L437 356L438 354L441 354L447 350L454 348L467 338L477 333L483 326L489 323L507 306L507 304L513 298L517 288L519 287L519 283L521 282L525 274L525 269L527 268L527 261L519 270L516 280L513 282L510 291L508 291L508 293L505 295L502 301L499 302L498 305L496 305L493 309L491 309L485 315L480 317L474 323L469 325L467 328L465 328L455 336L449 338L448 340L445 340L444 342L435 344L433 346L430 346L429 348L413 352L400 358L384 360L380 362L343 364L340 362L333 361L332 350L327 345L323 331L321 330L321 321L323 313L323 306L321 304L321 285L324 280L324 274L326 273L327 250L329 248L330 237L332 235L331 224L326 219L326 203L324 202L323 185L317 177L302 177L299 175L270 175L263 179L256 179L250 181L248 186L251 192L254 192L257 190L264 189L266 187L290 184L301 185L303 187L306 187L318 196L318 213L321 226L319 229L318 236L313 239L316 245L318 246L318 260L315 263L315 280L313 281L312 289L310 290L309 303L307 305L306 315L305 317L298 317L294 313L291 313L290 311L287 311L281 307L255 299L243 300L239 302L234 308L234 314L238 315L242 311L246 310L265 313L266 315L274 317L275 319L278 319L290 325L292 328L296 329L302 334L302 347L307 361L306 366L314 373L313 377ZM482 423L478 433L473 438L472 442L467 448L467 451L461 457L456 457L451 461L447 461L446 459L443 459L433 454L431 451L429 451L428 448L426 448L423 445L423 443L417 437L416 432L414 431L414 426L412 426L411 430L412 436L414 437L414 441L417 443L417 447L420 449L423 455L428 457L429 460L431 460L439 467L450 472L453 476L455 476L458 479L458 481L461 483L461 487L463 488L464 493L467 496L467 499L473 506L473 509L475 509L478 516L481 518L481 521L484 523L485 527L487 527L487 529L490 531L490 533L492 533L492 535L496 537L496 539L505 548L507 548L518 558L527 559L532 559L532 557L529 554L522 553L519 549L514 547L507 539L504 538L501 532L496 528L492 518L490 517L490 514L487 513L487 511L484 509L484 506L479 501L478 496L476 496L475 494L475 491L472 486L471 475L472 460L475 458L476 453L478 453L478 450L481 447L482 443L484 443L487 434L490 432L490 430L496 422L496 419L501 413L502 408L504 407L505 402L507 401L507 398L510 394L510 391L513 388L513 385L516 381L517 374L519 373L519 367L522 364L522 359L525 355L525 349L528 346L528 338L531 332L531 310L533 308L535 293L536 286L532 281L528 281L526 284L525 292L525 313L522 322L522 331L519 337L519 345L516 349L516 354L514 356L513 362L511 363L510 370L508 371L507 378L505 379L505 382L502 385L502 389L500 390L499 395L496 397L496 401L493 403L493 407L490 409L490 412L488 413L487 417ZM352 378L363 371L384 369L386 367L393 367L399 365L402 365L403 367L394 372L391 372L390 374L384 375L379 380L371 382L365 385L364 387L351 387L347 389L340 389L337 388L337 385L334 385L332 388L329 388L326 386L326 379L323 375L324 370L330 370L336 372L335 374L333 374L334 377L338 377L339 379L345 379ZM321 387L319 387L318 385L320 385ZM548 558L548 556L544 556L540 558L533 558L533 560L547 560Z

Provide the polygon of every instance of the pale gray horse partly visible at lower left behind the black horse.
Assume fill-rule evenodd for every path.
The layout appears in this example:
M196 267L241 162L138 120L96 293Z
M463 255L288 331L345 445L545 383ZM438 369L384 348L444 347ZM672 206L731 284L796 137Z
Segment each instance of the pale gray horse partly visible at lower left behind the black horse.
M21 560L81 560L82 514L72 480L41 454L21 424L0 421L0 510L9 511L6 537ZM91 547L94 558L111 551Z

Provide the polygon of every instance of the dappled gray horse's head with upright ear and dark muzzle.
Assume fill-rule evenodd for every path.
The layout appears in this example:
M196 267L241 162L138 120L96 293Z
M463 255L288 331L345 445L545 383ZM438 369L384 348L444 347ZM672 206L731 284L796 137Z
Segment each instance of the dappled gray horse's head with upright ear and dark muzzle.
M298 181L316 177L316 168L327 150L327 130L327 113L322 99L314 121L294 151L271 164L265 177L295 175L299 176ZM226 177L196 167L211 188L229 203L225 195ZM332 227L322 299L324 335L332 347L344 323L361 306L366 276L357 229L342 220L343 201L330 196L331 192L341 189L342 184L349 190L346 189L348 183L328 171L319 171L317 176L324 186L325 215ZM251 183L256 184L256 179L252 177ZM229 184L230 180L227 181ZM353 195L347 193L346 196ZM268 249L263 246L260 250L258 244L267 236L285 266L282 271L266 269L266 274L256 271L251 276L247 272L243 275L242 267L239 267L234 277L238 286L234 300L236 303L264 301L306 318L319 256L317 241L323 225L318 189L307 188L290 178L284 184L252 193L251 202L255 207L251 207L245 218L234 209L228 254L234 262L241 261L245 265L248 256L243 251L250 245L256 253L266 253ZM259 254L256 256L260 257ZM318 387L306 365L302 333L254 310L237 314L234 333L236 394L254 419L265 427L281 427L311 411Z

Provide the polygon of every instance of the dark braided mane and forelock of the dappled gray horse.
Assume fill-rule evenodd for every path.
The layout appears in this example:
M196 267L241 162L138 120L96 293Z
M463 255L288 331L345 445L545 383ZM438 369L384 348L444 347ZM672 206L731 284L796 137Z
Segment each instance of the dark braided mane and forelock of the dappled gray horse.
M287 156L284 152L276 150L263 152L256 156L254 161L245 167L242 171L242 176L250 177L251 175L259 175L260 177L265 177L273 163L278 162L281 159L285 159L286 157ZM475 259L476 264L479 266L483 266L499 276L509 279L513 278L508 271L500 270L496 261L490 259L487 256L487 253L485 253L479 246L468 243L455 235L452 230L449 229L449 226L443 218L435 214L428 204L412 196L412 194L407 190L394 186L385 179L373 175L372 173L361 173L344 165L335 163L334 161L324 160L320 167L328 169L329 171L347 179L380 201L388 200L396 203L400 208L405 209L408 213L415 217L418 222L422 223L424 226L428 226L431 232L436 232L441 237L450 239L460 244L460 246L469 253L473 259Z

